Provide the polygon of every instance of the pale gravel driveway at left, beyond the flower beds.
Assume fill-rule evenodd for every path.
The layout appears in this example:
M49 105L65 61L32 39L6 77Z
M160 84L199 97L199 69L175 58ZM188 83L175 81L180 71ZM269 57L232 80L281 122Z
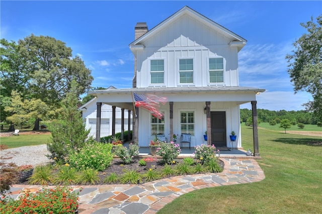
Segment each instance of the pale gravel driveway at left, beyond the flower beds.
M33 166L50 163L46 157L50 152L47 145L23 146L0 151L0 161L3 163L15 163L18 166L31 164Z

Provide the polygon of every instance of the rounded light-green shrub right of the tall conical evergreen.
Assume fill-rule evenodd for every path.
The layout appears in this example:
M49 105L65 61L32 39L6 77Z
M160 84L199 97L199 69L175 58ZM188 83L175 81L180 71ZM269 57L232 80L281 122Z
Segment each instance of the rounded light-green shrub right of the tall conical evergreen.
M103 171L112 163L112 146L112 144L98 143L92 140L83 148L73 151L66 157L66 161L77 170L92 168Z

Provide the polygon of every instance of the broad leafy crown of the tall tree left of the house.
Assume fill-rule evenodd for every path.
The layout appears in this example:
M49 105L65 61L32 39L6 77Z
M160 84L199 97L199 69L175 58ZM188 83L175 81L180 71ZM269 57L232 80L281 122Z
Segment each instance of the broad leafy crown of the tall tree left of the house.
M31 36L19 40L22 54L36 65L29 83L30 93L48 105L57 106L70 89L73 78L78 83L77 96L90 89L91 70L65 43L49 36Z

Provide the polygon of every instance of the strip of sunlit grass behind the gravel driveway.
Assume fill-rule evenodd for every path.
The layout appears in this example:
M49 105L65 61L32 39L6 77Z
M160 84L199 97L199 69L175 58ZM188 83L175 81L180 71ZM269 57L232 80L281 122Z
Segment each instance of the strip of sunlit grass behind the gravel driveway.
M20 134L19 136L1 137L0 143L7 145L9 148L40 145L46 144L50 136L50 133L38 135Z

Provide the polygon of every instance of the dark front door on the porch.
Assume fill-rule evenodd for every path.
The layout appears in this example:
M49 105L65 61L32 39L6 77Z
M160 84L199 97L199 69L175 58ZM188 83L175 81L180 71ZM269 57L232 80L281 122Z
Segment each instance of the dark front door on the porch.
M211 112L211 145L227 146L226 144L226 113Z

